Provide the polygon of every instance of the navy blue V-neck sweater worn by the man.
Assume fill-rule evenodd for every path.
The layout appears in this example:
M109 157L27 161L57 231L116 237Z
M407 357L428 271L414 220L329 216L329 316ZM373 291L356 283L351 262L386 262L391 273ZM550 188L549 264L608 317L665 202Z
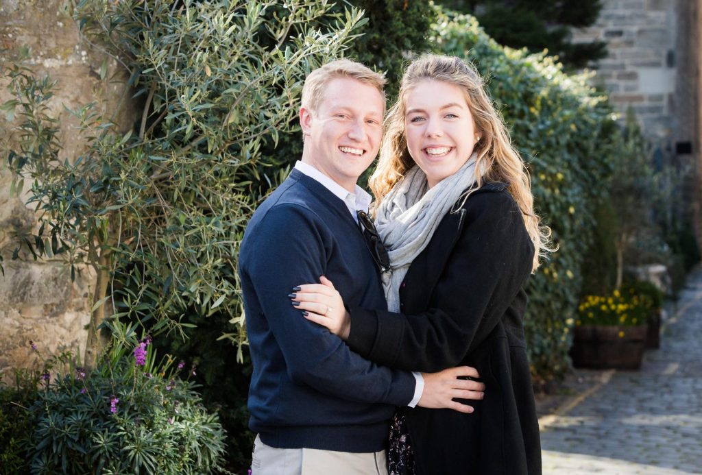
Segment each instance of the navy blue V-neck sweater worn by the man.
M307 321L287 297L327 276L349 305L387 309L345 203L298 170L253 214L239 254L253 375L249 427L277 448L382 450L415 379L377 366Z

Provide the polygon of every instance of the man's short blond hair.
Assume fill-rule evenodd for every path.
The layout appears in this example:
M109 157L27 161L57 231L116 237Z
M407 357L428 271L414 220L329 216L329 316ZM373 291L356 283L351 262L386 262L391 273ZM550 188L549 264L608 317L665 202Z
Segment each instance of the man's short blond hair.
M383 74L374 72L360 62L342 59L329 62L322 67L314 69L307 76L305 86L303 86L302 107L305 107L312 114L316 114L319 102L324 97L324 88L327 83L332 79L338 78L356 79L364 84L373 86L385 98L385 92L383 91L385 77Z

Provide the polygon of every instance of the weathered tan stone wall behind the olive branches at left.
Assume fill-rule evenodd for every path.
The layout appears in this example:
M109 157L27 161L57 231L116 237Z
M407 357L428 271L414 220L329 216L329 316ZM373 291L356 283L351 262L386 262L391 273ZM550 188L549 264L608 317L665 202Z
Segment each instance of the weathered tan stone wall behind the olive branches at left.
M74 126L77 121L64 106L75 108L98 101L103 113L114 110L124 91L124 78L113 60L108 74L100 79L100 65L105 55L81 38L77 25L65 10L68 2L60 0L0 0L0 63L15 58L19 48L29 48L29 60L35 74L48 74L58 81L51 103L54 116L60 119L59 138L63 149L60 158L73 160L84 142ZM7 48L5 52L2 48ZM8 79L0 77L0 104L11 99ZM117 122L131 125L126 107ZM0 115L0 252L4 256L5 276L0 275L0 372L32 364L29 340L37 342L44 354L84 347L94 276L83 269L75 283L60 260L11 260L12 232L18 226L36 222L34 206L25 206L24 196L10 196L11 173L6 168L7 149L16 147L13 123ZM26 188L26 187L25 187Z

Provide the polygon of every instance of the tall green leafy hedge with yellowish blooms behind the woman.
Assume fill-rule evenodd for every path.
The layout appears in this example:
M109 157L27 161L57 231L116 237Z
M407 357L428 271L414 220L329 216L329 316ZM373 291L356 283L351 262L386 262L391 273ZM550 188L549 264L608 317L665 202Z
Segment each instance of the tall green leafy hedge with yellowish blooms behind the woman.
M569 76L555 58L503 48L470 15L438 9L438 52L475 63L529 162L536 210L559 246L529 281L527 340L537 381L562 375L581 288L581 265L597 203L618 145L616 117L588 74Z

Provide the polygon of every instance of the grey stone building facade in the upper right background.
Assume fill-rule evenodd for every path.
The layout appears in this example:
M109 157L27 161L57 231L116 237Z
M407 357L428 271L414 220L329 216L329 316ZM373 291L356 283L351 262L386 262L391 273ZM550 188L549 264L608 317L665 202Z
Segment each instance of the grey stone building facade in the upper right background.
M656 158L689 170L682 190L692 213L702 217L699 173L700 0L603 0L592 27L573 32L574 41L606 41L607 58L595 69L595 84L609 92L625 114L633 109ZM697 184L697 185L696 185ZM695 219L698 241L702 220ZM702 243L702 241L701 241Z

